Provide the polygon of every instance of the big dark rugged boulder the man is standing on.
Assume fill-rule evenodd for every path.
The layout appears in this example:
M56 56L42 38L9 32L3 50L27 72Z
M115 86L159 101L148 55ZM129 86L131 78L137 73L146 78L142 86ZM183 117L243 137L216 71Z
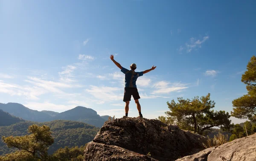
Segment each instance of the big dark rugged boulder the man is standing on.
M84 161L174 161L203 150L202 141L156 119L123 117L105 122L88 143Z

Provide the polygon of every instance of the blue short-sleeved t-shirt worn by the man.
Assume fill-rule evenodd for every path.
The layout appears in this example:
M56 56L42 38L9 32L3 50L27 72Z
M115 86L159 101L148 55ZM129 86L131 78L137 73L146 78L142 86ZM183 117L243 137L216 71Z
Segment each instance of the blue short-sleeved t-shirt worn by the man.
M125 87L137 88L136 81L139 76L143 76L143 72L135 72L122 67L121 71L125 74Z

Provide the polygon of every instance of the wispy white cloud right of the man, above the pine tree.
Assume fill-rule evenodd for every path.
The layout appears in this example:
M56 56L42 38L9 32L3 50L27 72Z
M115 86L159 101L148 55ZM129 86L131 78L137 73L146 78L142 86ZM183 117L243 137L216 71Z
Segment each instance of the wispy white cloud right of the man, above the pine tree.
M165 81L160 81L154 84L155 90L152 92L152 94L164 94L164 93L171 93L171 92L180 92L181 90L184 90L187 87L188 84L182 84L180 82L178 83L170 83Z

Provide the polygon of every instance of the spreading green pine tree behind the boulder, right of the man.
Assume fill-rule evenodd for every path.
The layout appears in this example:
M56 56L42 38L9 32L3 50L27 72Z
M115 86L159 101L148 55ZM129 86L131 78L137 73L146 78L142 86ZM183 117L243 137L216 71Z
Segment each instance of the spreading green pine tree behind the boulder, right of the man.
M158 119L176 123L181 129L193 130L203 134L212 127L220 127L223 130L230 128L229 113L225 111L211 110L215 102L210 100L210 93L207 96L194 97L192 100L178 98L176 103L167 102L170 111L166 111L167 117L160 116Z

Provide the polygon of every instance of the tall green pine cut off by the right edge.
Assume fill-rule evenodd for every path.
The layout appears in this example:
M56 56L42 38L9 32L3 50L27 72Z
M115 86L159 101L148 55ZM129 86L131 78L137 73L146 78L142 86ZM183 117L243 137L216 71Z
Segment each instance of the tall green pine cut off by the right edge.
M233 100L231 115L239 119L256 121L256 57L252 56L247 65L247 71L242 75L241 82L246 84L248 93Z

